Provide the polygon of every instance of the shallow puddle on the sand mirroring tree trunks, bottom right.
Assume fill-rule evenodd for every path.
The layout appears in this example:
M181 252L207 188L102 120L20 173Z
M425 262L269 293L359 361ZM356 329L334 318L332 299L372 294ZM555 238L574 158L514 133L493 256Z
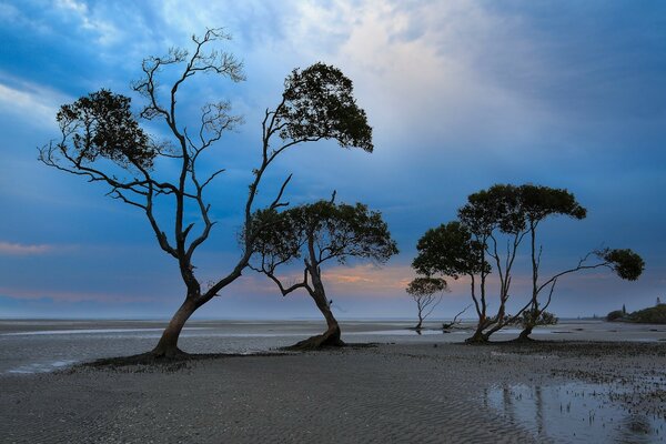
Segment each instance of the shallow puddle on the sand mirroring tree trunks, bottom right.
M502 385L484 391L485 406L541 440L566 443L666 443L666 418L623 403L619 384Z

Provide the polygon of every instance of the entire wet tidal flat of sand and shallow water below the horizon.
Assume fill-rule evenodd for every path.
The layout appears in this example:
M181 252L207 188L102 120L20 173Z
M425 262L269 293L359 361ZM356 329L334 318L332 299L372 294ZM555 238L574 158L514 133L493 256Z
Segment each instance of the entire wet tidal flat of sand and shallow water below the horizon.
M284 354L321 323L195 321L183 350L246 355L77 365L150 350L162 325L0 321L3 442L666 442L664 326L565 321L471 346L434 322L347 321L346 342L375 345Z

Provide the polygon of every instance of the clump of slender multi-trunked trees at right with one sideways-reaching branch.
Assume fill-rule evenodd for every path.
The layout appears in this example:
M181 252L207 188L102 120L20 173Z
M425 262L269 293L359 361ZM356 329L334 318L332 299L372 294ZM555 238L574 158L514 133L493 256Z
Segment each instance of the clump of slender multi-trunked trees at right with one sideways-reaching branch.
M643 271L643 260L630 250L603 250L585 255L577 266L539 282L543 249L536 246L537 228L548 216L566 215L583 219L586 210L566 190L525 184L493 185L471 194L467 203L458 210L458 221L428 230L418 241L418 255L413 266L426 276L442 274L457 279L458 274L471 278L472 300L478 322L468 342L487 342L491 335L509 324L521 323L521 340L528 337L535 325L549 324L556 317L546 312L551 304L557 279L583 270L606 266L626 280L635 280ZM527 303L514 315L506 313L512 273L519 246L529 234L532 263L532 294ZM591 263L591 256L598 261ZM500 280L498 309L488 313L486 276L492 261ZM478 275L478 296L476 295ZM546 301L539 295L546 290Z

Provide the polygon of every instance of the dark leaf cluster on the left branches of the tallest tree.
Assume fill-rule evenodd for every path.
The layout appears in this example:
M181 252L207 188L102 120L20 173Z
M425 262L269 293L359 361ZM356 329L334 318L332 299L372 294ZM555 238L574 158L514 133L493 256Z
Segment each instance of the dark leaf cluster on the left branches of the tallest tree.
M73 154L69 155L77 163L101 157L123 168L150 169L158 152L132 115L130 102L102 89L60 107L56 119L63 134L71 135ZM64 143L59 147L69 150Z

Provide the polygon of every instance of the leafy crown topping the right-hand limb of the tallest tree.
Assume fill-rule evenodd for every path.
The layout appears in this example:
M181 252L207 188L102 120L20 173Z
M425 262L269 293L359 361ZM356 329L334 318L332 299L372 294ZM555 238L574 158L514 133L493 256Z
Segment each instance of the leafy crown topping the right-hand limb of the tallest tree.
M373 150L372 128L356 105L352 81L335 67L320 62L292 71L276 120L284 140L335 139L344 148Z

